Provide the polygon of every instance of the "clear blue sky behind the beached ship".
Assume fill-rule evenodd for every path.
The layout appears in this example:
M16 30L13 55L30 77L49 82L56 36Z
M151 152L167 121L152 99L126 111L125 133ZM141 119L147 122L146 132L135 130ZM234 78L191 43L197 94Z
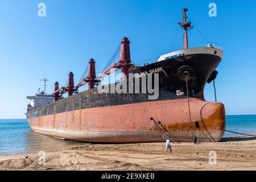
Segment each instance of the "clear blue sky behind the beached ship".
M46 3L46 17L38 16L40 2ZM217 5L217 17L208 15L211 2ZM100 73L123 36L131 40L135 63L182 49L177 21L183 7L189 9L192 24L225 52L216 87L226 114L256 114L253 0L0 0L0 118L24 118L26 96L43 88L43 77L50 80L48 93L55 81L65 84L69 71L77 82L90 57ZM189 31L189 47L205 43L196 28ZM214 100L212 84L206 86L205 98Z

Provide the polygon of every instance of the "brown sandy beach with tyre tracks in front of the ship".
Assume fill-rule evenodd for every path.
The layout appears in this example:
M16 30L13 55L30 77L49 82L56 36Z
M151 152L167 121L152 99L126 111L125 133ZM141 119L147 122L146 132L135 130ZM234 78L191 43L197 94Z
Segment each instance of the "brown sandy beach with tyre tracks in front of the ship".
M218 143L88 144L46 152L0 156L0 170L256 170L256 137L224 138ZM209 164L209 152L217 154Z

